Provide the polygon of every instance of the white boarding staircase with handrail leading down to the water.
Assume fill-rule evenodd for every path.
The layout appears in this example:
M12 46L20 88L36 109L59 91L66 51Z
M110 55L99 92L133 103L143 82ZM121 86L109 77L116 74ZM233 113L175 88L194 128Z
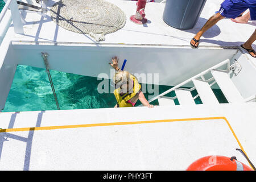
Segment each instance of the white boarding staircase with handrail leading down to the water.
M223 65L227 65L226 70L220 69ZM212 68L207 69L204 72L199 73L192 78L182 82L179 85L174 86L173 88L167 90L166 92L160 94L149 100L148 102L152 102L154 100L158 100L160 106L166 105L175 105L174 100L177 99L180 105L195 105L195 98L200 97L203 104L212 104L216 105L219 104L213 90L211 88L212 85L218 84L219 88L221 89L222 93L226 97L226 100L229 103L237 103L237 102L248 102L251 101L250 99L244 99L240 92L237 90L236 86L233 84L232 80L229 76L230 73L230 63L229 59L223 61L220 64L215 65ZM209 77L208 80L205 77ZM183 88L185 84L189 82L193 83L193 88ZM196 90L197 95L195 97L192 96L191 91ZM174 91L176 96L175 97L166 97L167 93ZM256 95L255 95L256 96ZM254 97L255 97L254 96Z

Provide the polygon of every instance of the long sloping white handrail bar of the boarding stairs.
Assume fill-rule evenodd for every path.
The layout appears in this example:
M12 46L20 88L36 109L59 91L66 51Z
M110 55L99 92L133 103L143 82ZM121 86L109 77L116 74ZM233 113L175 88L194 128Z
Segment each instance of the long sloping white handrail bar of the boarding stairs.
M174 91L176 89L179 89L181 86L187 84L188 82L190 82L190 81L192 81L192 80L194 80L194 79L196 79L198 77L201 77L201 76L205 75L206 73L208 73L208 72L210 72L212 70L216 70L218 67L221 67L222 65L225 65L225 64L228 64L228 69L226 71L223 71L223 72L227 72L228 73L230 71L230 61L229 61L229 59L226 59L225 61L222 61L221 63L219 63L217 65L214 65L213 67L207 69L206 71L201 72L201 73L197 74L196 76L193 76L193 77L189 78L188 80L181 82L180 84L174 86L173 88L166 90L166 92L163 92L162 94L159 94L158 96L155 96L155 97L151 98L151 100L148 100L148 102L150 103L152 101L155 101L158 98L166 95L167 93L170 93L170 92L172 92L172 91ZM220 71L222 71L222 70L220 70ZM209 81L211 81L211 80L212 79L210 78ZM193 87L193 88L195 88L195 87ZM193 88L191 88L191 89L193 89ZM139 106L143 106L143 105L141 104Z

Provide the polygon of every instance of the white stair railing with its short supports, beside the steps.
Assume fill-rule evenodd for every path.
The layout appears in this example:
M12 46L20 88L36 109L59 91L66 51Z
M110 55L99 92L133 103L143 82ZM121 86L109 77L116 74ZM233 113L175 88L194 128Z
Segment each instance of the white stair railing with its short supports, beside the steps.
M195 89L196 89L195 86L194 86L193 88L191 88L191 89L185 89L185 88L180 88L180 87L181 87L181 86L184 86L184 85L187 84L188 82L191 82L192 80L194 80L194 79L196 79L196 78L199 78L199 77L200 77L202 80L206 81L206 82L213 81L213 80L214 80L213 77L212 77L212 78L209 78L208 80L205 80L204 75L205 75L206 73L208 73L208 72L214 70L214 69L217 69L217 68L219 68L219 67L225 65L225 64L227 64L228 67L227 67L227 69L226 69L225 71L223 71L223 72L229 73L229 72L230 72L230 62L229 62L229 59L226 59L225 61L222 61L221 63L219 63L219 64L217 64L217 65L214 65L212 68L209 68L209 69L207 69L206 71L201 72L201 73L199 73L198 75L193 76L193 77L189 78L188 80L186 80L186 81L184 81L184 82L181 82L180 84L174 86L173 88L171 88L171 89L169 89L169 90L166 90L166 92L163 92L162 94L159 94L158 96L155 96L155 97L151 98L151 100L148 100L148 102L155 101L155 100L157 100L158 98L161 98L161 97L163 97L164 95L166 95L166 94L168 94L168 93L174 91L175 89L184 89L184 90L189 90L189 91L195 90ZM216 83L216 81L212 82L212 83L210 84L210 86L212 86L212 85L215 84L215 83ZM193 97L193 99L195 99L195 98L198 97L198 96L199 96L199 95L197 94L197 96ZM169 98L171 98L172 100L174 100L176 97L169 97ZM139 105L139 106L142 106L142 104Z

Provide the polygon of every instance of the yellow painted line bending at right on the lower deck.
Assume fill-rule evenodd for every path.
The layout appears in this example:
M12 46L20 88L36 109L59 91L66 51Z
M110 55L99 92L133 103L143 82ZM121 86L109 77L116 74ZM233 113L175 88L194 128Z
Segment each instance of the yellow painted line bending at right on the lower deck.
M237 138L237 135L234 133L234 130L232 129L230 123L228 122L228 119L226 119L225 117L162 119L162 120L151 120L151 121L112 122L112 123L96 123L96 124L85 124L85 125L23 127L23 128L16 128L16 129L0 129L0 133L14 132L14 131L74 129L74 128L80 128L80 127L97 127L97 126L137 125L137 124L146 124L146 123L164 123L164 122L175 122L175 121L203 121L203 120L215 120L215 119L224 119L224 121L229 126L229 129L231 130L234 138L236 138L237 143L239 144L241 150L247 156L245 150L243 150L242 144Z

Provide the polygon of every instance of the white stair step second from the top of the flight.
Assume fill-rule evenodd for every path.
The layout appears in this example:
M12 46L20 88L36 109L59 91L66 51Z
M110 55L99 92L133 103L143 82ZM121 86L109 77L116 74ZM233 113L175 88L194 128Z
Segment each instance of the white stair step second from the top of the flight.
M195 85L203 104L219 104L208 82L193 80L193 84Z

